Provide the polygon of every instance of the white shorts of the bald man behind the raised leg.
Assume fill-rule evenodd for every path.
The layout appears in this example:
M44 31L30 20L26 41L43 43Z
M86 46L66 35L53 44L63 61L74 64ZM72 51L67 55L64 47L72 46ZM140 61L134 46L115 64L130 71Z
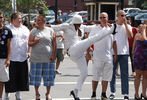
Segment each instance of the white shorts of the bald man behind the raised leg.
M111 62L94 61L92 66L93 80L111 81L113 73L113 64Z

